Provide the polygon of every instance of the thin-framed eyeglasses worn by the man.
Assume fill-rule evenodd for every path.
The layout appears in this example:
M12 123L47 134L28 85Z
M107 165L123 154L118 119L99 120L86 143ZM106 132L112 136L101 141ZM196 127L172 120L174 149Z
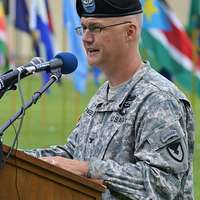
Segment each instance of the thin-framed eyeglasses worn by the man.
M90 33L92 34L96 34L96 33L100 33L102 30L109 28L109 27L113 27L113 26L119 26L122 24L128 24L128 23L132 23L131 21L125 21L122 23L118 23L118 24L111 24L111 25L107 25L107 26L101 26L100 24L89 24L88 26L85 26L84 24L76 27L75 31L79 36L82 36L85 31L88 29Z

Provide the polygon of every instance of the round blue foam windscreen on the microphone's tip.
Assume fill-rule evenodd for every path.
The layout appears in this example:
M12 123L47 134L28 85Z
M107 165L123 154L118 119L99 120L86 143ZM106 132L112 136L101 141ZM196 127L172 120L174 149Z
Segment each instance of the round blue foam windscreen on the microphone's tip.
M62 74L70 74L76 70L78 66L78 60L72 53L62 52L55 56L55 58L61 59L63 67L61 68Z

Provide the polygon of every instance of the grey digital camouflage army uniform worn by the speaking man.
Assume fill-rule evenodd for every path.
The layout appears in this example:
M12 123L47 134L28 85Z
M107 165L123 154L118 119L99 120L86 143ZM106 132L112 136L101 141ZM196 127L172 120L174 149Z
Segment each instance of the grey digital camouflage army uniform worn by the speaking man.
M194 124L186 97L147 63L107 98L91 99L64 146L32 152L89 161L102 199L192 200ZM30 152L29 152L30 153Z

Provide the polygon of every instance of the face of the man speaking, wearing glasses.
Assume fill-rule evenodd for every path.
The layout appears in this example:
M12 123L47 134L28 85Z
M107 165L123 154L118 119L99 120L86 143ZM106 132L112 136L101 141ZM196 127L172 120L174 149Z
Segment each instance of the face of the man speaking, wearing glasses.
M125 24L101 29L101 27L117 24L117 21L112 18L82 18L81 24L85 30L82 40L89 64L102 69L114 65L123 50Z

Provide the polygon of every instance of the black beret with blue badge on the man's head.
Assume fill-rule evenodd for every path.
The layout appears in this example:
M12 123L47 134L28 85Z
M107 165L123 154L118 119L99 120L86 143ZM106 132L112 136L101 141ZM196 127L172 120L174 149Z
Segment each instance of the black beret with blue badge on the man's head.
M121 17L142 13L140 0L76 0L80 17Z

